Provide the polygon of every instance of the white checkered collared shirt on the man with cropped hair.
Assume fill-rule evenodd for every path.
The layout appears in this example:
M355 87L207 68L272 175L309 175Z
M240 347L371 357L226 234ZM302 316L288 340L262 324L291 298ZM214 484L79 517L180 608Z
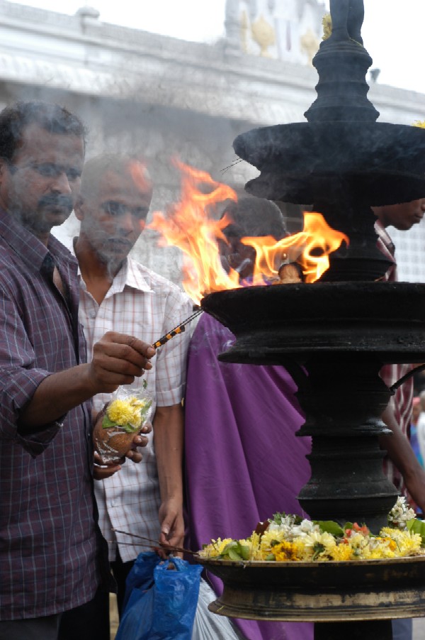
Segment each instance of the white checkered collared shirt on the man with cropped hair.
M81 275L79 277L79 320L84 327L89 360L94 343L106 331L127 333L152 344L193 312L193 302L179 287L132 258L125 261L100 305L87 292ZM171 338L152 358L152 369L135 382L135 386L140 387L143 380L147 381L147 392L154 401L152 416L157 405L168 407L181 402L189 338L189 327L188 331ZM100 410L108 399L108 394L97 395L94 409ZM141 451L140 464L126 460L111 478L95 480L99 525L108 541L111 561L116 557L117 542L123 562L134 560L141 551L153 546L149 542L145 546L137 544L143 541L115 534L112 528L153 541L159 539L159 480L152 433L149 444Z

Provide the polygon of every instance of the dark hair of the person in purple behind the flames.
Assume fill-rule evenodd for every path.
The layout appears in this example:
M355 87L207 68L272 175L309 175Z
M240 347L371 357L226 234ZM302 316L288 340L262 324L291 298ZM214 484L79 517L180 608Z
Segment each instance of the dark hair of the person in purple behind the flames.
M282 211L271 200L242 197L230 202L223 213L232 219L224 230L225 236L273 236L276 240L288 235Z

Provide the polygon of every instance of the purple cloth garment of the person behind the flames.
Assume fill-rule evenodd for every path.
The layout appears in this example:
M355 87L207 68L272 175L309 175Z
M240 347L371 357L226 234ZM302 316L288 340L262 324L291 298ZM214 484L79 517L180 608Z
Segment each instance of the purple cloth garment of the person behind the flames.
M302 512L310 438L295 383L283 367L220 363L234 336L201 316L188 355L186 490L188 544L244 538L273 513ZM208 575L217 593L220 580ZM237 620L249 640L311 640L312 624Z

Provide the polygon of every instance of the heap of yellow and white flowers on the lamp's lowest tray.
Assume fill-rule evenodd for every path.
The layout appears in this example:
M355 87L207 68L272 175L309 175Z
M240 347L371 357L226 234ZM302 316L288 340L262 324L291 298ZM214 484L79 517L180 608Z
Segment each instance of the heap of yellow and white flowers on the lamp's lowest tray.
M403 497L388 514L388 525L378 536L364 524L310 522L277 513L266 528L257 527L249 538L212 540L199 551L202 558L231 561L355 561L425 555L425 523L417 520ZM260 533L259 530L263 529Z

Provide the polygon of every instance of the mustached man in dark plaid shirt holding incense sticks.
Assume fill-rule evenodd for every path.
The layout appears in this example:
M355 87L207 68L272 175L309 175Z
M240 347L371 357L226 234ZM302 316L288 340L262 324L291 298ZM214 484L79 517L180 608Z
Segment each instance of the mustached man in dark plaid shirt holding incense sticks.
M108 597L89 399L135 380L154 355L108 332L86 364L77 262L50 233L72 211L84 147L83 124L62 106L0 113L1 640L57 640L64 611L102 588Z

